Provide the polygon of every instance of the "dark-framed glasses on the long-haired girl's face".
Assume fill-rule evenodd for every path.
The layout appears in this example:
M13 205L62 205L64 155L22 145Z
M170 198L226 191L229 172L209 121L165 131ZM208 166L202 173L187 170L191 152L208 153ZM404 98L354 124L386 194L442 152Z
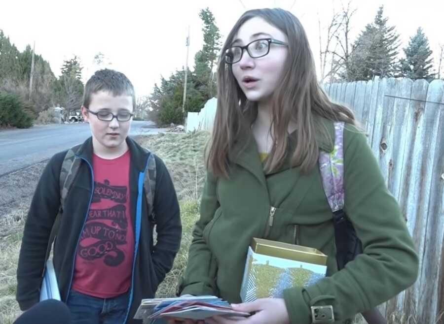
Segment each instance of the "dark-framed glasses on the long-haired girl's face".
M244 50L247 50L248 55L252 59L261 58L270 52L270 44L277 44L288 46L286 42L274 38L256 39L245 46L231 46L225 51L225 62L227 64L234 64L242 59Z

